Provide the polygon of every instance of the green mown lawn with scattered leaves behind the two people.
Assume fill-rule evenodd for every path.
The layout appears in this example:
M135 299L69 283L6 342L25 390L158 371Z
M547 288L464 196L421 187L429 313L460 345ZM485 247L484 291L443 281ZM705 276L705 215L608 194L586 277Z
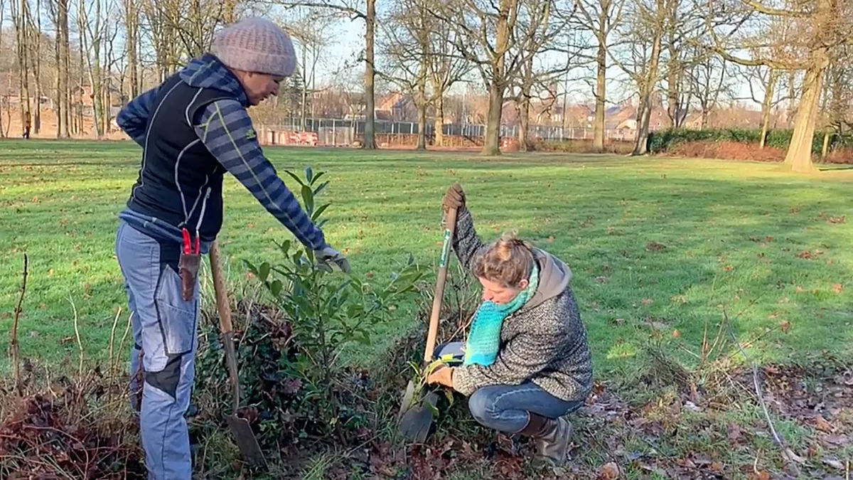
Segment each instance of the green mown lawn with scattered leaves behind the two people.
M409 254L434 262L441 198L460 182L483 237L517 230L571 266L597 378L632 371L653 332L698 351L722 307L737 316L742 341L760 339L749 344L759 360L850 356L853 173L595 155L265 151L287 184L284 169L328 172L325 232L358 276L388 275ZM77 358L72 301L89 358L106 357L119 307L125 325L113 241L140 153L130 142L0 143L0 331L12 324L26 253L23 356L57 366ZM247 284L240 260L275 258L273 241L292 236L230 177L225 195L228 274ZM413 321L403 311L380 326L374 348ZM3 352L8 344L0 336Z

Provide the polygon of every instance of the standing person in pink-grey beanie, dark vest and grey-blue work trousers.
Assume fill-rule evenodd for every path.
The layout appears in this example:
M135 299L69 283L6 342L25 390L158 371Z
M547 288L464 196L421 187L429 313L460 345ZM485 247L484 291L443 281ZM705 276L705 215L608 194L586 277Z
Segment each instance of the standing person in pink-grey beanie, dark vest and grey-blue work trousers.
M191 475L183 414L194 380L198 262L222 226L223 175L234 175L319 262L349 272L264 157L247 114L277 95L295 64L293 44L280 27L242 20L218 32L211 52L118 115L121 129L142 146L115 249L135 340L131 390L141 392L141 399L131 393L131 403L140 415L150 479Z

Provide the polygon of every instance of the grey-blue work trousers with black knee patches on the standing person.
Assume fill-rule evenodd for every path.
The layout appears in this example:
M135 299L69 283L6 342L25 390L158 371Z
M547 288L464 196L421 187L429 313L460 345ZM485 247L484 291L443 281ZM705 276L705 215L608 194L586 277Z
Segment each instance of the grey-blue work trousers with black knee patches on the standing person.
M139 428L149 480L189 480L192 457L183 415L194 381L199 287L184 301L177 260L180 243L161 245L125 221L119 222L115 253L125 277L134 345L131 406ZM142 369L142 385L137 373ZM142 405L136 395L142 393Z

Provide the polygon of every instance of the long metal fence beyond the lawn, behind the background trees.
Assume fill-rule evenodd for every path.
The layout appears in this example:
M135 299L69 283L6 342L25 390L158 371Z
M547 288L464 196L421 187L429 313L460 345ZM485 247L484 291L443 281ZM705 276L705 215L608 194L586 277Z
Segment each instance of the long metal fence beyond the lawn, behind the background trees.
M259 130L262 132L264 143L283 144L287 142L287 135L293 132L316 133L316 142L324 146L351 145L364 134L364 120L349 119L305 119L305 126L299 118L282 119L277 124L264 124ZM402 144L414 143L420 131L417 122L412 121L390 121L374 120L374 133L385 143ZM435 138L435 125L427 121L424 132L428 139ZM566 126L548 126L531 124L528 126L530 138L541 138L546 141L562 140L592 140L595 131L592 128L572 128ZM486 126L481 124L455 123L442 126L444 138L457 138L467 140L468 143L481 143L485 138ZM502 138L518 138L518 125L502 125ZM606 130L605 139L611 141L630 140L634 136L632 131Z

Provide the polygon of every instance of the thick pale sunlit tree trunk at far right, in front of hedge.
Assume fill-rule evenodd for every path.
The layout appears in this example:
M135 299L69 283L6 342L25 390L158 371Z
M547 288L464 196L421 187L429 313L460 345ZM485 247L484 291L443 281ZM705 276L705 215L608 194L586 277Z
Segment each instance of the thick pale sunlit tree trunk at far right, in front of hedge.
M786 167L795 173L809 173L815 168L811 160L811 149L815 137L823 72L828 61L827 47L818 47L812 52L811 65L805 72L803 94L800 96L797 115L794 118L794 132L785 155Z

